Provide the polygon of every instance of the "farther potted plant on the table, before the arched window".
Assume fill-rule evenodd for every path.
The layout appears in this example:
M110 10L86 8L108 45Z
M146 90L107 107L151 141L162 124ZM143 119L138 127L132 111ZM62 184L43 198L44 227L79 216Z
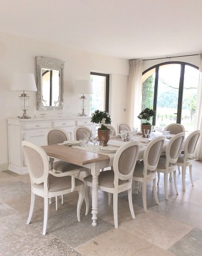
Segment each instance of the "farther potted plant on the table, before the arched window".
M138 115L138 119L143 120L142 126L141 126L143 137L145 137L144 129L149 129L149 133L151 132L150 119L154 115L155 115L155 111L153 109L149 109L148 107L146 107L146 109L143 109Z

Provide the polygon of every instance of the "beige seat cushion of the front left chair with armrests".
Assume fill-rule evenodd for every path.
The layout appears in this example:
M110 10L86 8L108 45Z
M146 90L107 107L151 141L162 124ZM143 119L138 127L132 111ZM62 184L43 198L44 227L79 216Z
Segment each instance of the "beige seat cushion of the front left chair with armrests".
M71 176L65 177L55 177L52 174L48 175L48 184L49 184L49 192L56 192L60 190L70 189L72 188L72 178ZM75 186L80 186L83 184L83 181L75 179ZM37 188L43 190L43 183L36 184Z

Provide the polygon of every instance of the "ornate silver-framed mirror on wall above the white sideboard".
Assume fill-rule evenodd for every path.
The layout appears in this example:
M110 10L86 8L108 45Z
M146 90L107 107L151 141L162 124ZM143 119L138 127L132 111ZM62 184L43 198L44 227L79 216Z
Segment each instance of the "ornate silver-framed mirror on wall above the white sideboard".
M64 61L52 58L37 59L37 109L46 104L53 109L54 101L63 101L63 69Z

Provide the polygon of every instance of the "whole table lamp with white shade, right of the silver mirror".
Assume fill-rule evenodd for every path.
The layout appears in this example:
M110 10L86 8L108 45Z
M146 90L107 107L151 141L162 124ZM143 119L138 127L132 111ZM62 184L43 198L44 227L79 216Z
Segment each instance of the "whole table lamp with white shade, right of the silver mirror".
M83 94L83 96L79 98L82 109L82 113L79 113L79 116L87 116L84 111L86 108L85 102L87 98L84 96L84 94L93 94L92 83L89 80L75 80L74 93Z

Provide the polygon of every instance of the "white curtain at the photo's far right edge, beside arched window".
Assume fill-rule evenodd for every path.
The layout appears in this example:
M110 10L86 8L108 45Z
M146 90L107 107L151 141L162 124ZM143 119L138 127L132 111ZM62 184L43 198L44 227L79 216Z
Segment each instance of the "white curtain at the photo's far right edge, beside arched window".
M199 137L198 146L195 151L195 159L202 161L202 53L200 53L199 71L200 71L200 74L199 74L198 98L196 102L195 130L200 130L201 135Z

